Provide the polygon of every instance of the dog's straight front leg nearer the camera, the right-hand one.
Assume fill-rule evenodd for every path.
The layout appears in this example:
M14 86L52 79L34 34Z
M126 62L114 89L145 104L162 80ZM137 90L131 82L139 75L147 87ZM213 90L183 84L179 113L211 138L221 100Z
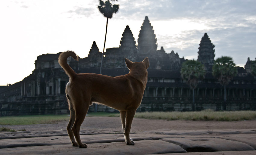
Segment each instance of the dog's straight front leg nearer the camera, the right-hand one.
M127 110L126 118L125 118L125 127L124 127L124 138L127 145L134 145L134 141L130 139L130 131L133 122L133 117L135 115L136 110Z

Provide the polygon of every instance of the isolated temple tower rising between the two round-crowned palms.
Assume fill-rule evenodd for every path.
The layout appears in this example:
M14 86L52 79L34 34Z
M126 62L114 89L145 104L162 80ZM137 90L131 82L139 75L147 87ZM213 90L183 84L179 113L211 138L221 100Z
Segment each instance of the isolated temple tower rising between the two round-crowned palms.
M215 57L215 45L211 43L210 38L208 37L207 33L204 33L204 36L201 39L199 44L199 51L197 60L204 65L206 72L212 72L212 66L214 64L214 57Z

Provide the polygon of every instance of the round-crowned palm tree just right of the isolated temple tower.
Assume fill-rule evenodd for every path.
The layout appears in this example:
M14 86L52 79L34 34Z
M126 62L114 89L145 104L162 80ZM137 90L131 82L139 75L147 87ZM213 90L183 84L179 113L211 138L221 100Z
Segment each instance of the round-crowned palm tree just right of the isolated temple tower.
M232 57L221 56L214 61L212 75L219 80L221 85L224 86L223 110L226 110L226 85L229 84L236 74L236 64L233 62Z

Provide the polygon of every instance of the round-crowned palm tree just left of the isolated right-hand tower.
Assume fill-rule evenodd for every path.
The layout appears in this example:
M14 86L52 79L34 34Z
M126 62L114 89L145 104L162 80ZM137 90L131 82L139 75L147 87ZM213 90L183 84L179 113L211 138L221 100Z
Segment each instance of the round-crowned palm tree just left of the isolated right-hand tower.
M204 65L196 60L187 60L182 64L180 75L192 89L192 110L195 111L195 88L200 79L204 78Z

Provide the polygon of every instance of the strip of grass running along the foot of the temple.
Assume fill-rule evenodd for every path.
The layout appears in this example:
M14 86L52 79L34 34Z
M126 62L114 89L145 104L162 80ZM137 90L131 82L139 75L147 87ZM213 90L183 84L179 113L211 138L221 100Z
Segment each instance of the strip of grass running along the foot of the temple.
M119 113L88 113L87 117L119 117ZM242 121L256 119L256 111L213 111L203 110L195 112L140 112L135 117L145 119L164 120L203 120L203 121ZM29 115L4 116L0 118L0 125L30 125L56 123L67 121L70 116L64 115Z

